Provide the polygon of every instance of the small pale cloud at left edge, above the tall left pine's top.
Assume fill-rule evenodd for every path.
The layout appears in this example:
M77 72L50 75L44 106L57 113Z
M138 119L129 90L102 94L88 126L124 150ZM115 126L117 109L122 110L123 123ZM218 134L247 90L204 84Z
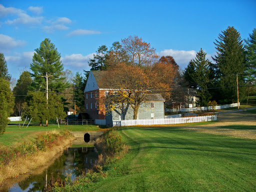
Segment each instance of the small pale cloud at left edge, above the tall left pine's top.
M15 40L12 37L0 34L0 50L9 51L10 49L23 46L25 41Z

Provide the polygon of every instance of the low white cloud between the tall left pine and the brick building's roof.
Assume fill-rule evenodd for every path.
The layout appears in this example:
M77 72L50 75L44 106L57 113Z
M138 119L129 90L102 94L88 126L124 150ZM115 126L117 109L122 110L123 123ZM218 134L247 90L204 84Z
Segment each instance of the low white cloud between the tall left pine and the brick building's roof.
M95 54L95 53L94 53ZM72 71L89 70L88 60L93 58L93 53L83 56L82 54L65 55L62 59L64 67Z

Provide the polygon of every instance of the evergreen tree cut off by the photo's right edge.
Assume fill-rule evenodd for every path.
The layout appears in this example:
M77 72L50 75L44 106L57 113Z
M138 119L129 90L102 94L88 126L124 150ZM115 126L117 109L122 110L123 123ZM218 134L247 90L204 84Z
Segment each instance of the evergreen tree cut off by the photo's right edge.
M245 56L246 56L246 76L245 81L248 85L246 87L247 103L249 94L253 90L256 81L256 28L253 29L252 34L249 34L249 38L244 39L245 41Z

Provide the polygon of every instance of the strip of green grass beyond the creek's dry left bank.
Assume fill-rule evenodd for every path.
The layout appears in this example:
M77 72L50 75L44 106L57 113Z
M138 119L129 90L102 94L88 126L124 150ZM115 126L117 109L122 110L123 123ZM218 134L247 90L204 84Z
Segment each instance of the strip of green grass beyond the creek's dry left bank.
M38 134L52 130L69 130L69 131L99 131L95 125L48 125L45 126L24 126L18 129L17 125L7 126L3 135L0 135L0 145L10 146L17 142L31 141Z

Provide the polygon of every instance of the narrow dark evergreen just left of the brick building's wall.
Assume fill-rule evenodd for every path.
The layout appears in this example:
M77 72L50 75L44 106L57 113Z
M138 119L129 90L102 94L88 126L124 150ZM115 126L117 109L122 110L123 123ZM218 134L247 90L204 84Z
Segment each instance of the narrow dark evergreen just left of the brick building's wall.
M73 78L73 84L74 84L74 100L75 104L79 109L76 109L77 112L84 111L84 88L86 85L86 80L82 77L82 75L78 72L76 72L75 77Z

